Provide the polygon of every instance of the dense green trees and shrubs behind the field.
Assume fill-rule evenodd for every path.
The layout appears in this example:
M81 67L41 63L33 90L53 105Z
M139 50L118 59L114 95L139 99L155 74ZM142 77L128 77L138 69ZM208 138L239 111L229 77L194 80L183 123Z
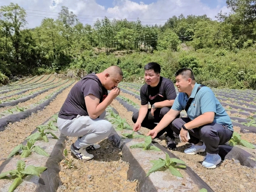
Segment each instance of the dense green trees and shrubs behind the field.
M138 19L97 20L83 25L67 7L58 19L45 18L25 29L26 11L17 4L0 7L0 83L18 74L69 69L100 72L119 65L126 80L143 75L143 66L159 62L162 75L174 80L189 67L197 81L211 87L256 89L256 3L227 0L229 15L173 16L163 26L143 26Z

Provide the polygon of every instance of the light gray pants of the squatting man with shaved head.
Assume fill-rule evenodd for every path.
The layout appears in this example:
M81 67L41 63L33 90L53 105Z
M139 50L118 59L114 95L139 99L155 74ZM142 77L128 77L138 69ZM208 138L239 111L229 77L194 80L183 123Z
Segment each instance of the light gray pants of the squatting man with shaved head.
M80 115L72 120L58 118L57 125L63 135L78 137L74 143L75 147L88 147L110 135L113 126L104 120L105 114L106 112L103 112L97 119Z

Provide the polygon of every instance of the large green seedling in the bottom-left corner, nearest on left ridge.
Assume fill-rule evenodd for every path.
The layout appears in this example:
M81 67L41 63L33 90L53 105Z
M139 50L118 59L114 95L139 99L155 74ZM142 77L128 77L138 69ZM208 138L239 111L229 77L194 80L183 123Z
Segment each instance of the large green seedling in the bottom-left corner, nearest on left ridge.
M22 179L26 175L36 175L44 172L47 167L35 167L34 165L28 165L26 168L26 163L23 160L17 161L17 168L14 170L9 170L8 172L4 172L0 174L0 179L14 179L11 186L8 189L8 192L12 192L20 183L22 183ZM8 175L10 175L8 177Z

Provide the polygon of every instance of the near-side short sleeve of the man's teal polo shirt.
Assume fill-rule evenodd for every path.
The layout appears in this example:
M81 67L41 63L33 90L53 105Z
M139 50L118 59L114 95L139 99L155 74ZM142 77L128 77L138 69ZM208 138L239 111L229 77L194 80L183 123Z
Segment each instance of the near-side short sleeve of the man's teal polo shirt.
M216 99L214 92L204 91L200 97L200 109L202 114L206 112L216 113Z

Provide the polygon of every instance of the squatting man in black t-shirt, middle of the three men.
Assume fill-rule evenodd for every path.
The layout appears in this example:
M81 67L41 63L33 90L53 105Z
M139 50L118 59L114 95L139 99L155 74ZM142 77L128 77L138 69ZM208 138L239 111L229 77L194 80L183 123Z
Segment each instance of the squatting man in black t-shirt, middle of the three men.
M163 116L170 110L177 96L174 83L167 78L160 76L161 67L156 62L147 63L144 67L145 84L140 88L141 106L138 113L133 115L134 131L140 127L153 130L156 123L160 122ZM151 109L148 109L148 102ZM158 133L160 137L166 132L166 142L169 149L175 149L175 137L169 125Z

